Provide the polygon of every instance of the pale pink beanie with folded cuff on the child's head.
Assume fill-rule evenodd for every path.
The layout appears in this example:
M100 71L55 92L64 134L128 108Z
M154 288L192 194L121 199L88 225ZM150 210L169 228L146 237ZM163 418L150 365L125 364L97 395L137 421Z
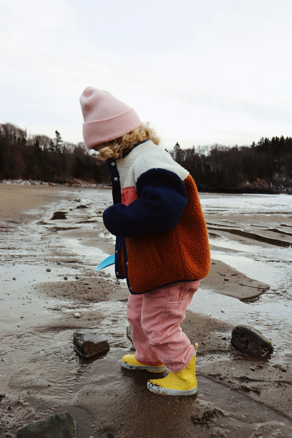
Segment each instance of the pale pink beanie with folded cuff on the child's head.
M80 97L83 138L88 149L114 140L142 126L133 108L108 91L87 87Z

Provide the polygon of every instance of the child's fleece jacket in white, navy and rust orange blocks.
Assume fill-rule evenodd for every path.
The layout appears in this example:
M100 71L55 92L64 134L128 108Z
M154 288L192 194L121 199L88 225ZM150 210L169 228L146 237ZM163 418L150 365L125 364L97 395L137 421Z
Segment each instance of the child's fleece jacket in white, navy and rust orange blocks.
M151 140L107 164L114 204L103 221L116 236L116 277L137 294L207 276L207 227L188 171Z

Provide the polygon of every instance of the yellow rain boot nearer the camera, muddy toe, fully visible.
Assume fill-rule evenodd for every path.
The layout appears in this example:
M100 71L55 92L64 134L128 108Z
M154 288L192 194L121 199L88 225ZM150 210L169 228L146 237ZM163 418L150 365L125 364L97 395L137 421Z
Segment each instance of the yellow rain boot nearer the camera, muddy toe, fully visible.
M198 344L195 343L195 354L190 362L178 373L169 371L162 379L148 380L147 389L162 396L192 396L197 392L197 379L195 374L196 353Z

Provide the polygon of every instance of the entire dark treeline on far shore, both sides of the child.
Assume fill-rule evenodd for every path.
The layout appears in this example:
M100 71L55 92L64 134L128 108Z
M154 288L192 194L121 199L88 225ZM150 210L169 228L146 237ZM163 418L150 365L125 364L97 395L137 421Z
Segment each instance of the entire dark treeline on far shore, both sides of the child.
M110 184L106 163L89 154L84 143L28 136L13 124L0 124L0 180ZM250 146L180 148L172 157L185 167L201 191L291 193L292 138L261 138Z

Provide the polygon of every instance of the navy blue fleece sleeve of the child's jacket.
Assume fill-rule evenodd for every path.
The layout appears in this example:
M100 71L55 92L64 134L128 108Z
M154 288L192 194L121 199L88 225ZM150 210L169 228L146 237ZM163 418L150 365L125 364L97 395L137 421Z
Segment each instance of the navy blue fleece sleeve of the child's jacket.
M114 204L103 212L103 222L120 237L145 236L172 230L187 203L186 188L176 173L151 169L137 179L138 199Z

